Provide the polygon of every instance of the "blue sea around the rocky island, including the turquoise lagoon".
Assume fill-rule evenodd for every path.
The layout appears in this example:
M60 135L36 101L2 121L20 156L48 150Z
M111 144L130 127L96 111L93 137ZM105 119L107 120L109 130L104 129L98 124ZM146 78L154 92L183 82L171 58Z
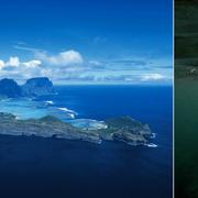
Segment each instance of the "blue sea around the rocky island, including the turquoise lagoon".
M0 194L14 197L170 198L173 96L168 86L64 86L1 110L65 121L131 116L156 133L158 147L96 145L58 139L0 136ZM70 118L69 118L70 117ZM79 120L79 121L80 121ZM1 196L0 196L1 197Z

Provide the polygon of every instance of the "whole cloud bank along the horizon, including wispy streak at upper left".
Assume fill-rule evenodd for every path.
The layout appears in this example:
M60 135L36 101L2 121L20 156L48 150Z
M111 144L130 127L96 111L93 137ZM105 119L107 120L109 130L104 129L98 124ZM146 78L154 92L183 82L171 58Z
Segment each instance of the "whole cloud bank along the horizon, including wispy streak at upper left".
M9 77L23 82L31 77L47 76L56 84L172 81L170 69L157 68L144 58L84 59L82 55L75 50L50 55L40 48L26 46L15 46L15 48L31 52L34 58L23 62L18 56L11 56L7 62L0 59L0 78Z

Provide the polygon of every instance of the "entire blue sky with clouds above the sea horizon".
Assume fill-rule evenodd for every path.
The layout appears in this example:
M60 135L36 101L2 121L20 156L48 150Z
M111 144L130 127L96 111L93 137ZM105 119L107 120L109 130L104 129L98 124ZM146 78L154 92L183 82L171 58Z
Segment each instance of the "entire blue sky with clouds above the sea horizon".
M172 0L0 3L0 79L172 84Z

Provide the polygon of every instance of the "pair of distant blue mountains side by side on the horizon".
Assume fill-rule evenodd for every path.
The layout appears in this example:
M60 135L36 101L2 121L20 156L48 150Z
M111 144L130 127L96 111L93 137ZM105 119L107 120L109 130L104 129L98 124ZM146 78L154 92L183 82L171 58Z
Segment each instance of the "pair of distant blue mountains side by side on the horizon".
M46 78L31 78L23 86L13 79L0 80L0 98L19 98L51 95L54 91L53 82Z

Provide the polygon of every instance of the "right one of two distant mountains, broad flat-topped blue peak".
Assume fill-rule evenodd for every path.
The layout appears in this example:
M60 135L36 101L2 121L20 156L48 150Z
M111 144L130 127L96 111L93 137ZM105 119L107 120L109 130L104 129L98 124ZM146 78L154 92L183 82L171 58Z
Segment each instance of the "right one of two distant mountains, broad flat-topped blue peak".
M54 91L53 82L46 78L31 78L22 86L24 96L43 96Z

